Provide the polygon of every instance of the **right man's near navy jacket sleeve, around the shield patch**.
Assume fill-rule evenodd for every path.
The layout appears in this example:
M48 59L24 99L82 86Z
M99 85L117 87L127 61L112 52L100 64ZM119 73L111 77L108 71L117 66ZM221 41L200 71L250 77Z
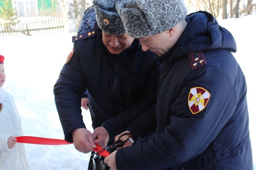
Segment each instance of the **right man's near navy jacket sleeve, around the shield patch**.
M238 99L234 85L226 75L216 68L209 69L212 70L201 70L200 77L198 74L187 77L180 94L170 106L170 123L163 131L146 142L117 150L118 170L172 167L198 156L209 146L230 119L241 99ZM244 81L240 83L239 86L244 86ZM211 93L208 106L200 113L192 114L188 107L189 91L192 87L202 85ZM246 90L239 96L244 94ZM161 116L161 113L157 114Z

